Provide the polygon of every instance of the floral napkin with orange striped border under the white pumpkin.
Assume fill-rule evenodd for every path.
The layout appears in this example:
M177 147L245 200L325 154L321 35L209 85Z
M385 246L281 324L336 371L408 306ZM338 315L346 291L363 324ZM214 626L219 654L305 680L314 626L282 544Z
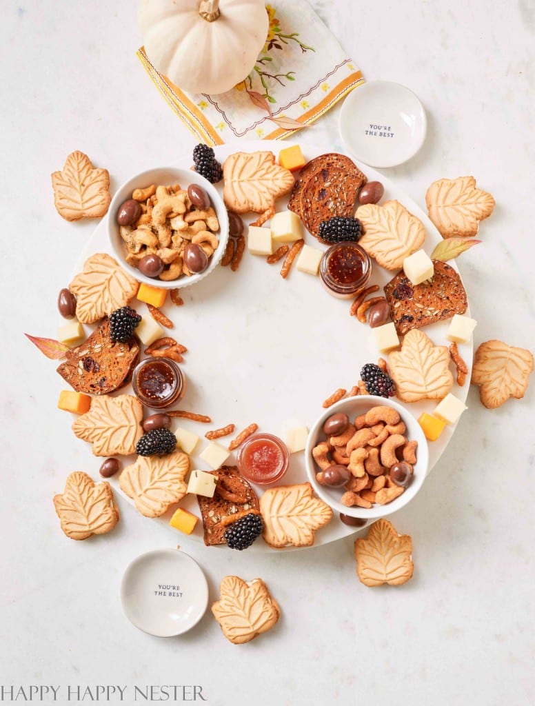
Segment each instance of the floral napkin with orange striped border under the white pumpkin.
M363 77L306 0L266 5L268 37L253 71L220 95L186 93L138 57L174 112L197 138L282 140L321 117Z

